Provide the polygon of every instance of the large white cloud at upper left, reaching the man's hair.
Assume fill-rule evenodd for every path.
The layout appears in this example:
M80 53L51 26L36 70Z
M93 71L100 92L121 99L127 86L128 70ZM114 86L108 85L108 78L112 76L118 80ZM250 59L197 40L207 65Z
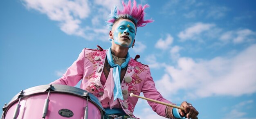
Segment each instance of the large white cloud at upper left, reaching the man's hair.
M108 38L108 28L105 24L99 23L106 20L114 4L121 6L119 0L22 0L22 2L27 9L39 11L47 15L50 20L57 21L60 29L66 34L87 40ZM92 23L86 22L85 25L81 25L87 18Z

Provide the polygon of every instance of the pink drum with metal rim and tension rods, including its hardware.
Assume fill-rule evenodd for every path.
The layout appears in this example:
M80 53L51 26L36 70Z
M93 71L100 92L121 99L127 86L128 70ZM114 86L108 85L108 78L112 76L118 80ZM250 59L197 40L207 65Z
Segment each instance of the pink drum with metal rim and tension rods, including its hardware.
M1 119L103 119L104 114L99 100L85 90L39 85L13 97Z

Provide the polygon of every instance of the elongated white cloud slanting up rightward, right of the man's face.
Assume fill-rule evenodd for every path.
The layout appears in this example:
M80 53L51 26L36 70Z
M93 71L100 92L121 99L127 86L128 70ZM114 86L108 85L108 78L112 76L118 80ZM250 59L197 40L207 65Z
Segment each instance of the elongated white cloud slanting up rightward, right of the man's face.
M178 34L181 41L196 40L205 31L209 31L215 27L215 24L195 23L193 26L186 28Z

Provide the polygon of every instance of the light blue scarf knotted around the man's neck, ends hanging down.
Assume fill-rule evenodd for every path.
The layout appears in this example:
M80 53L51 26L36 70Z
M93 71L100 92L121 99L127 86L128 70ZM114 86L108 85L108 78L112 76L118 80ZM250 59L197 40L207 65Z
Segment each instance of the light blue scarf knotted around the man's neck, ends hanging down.
M111 47L108 49L107 53L107 59L108 59L108 64L113 67L113 79L115 82L115 87L113 91L114 95L114 101L119 98L121 100L124 100L122 90L121 90L121 84L120 84L120 74L121 74L121 69L125 68L129 61L130 61L130 54L129 52L126 55L126 61L122 63L122 65L115 64L111 55Z

